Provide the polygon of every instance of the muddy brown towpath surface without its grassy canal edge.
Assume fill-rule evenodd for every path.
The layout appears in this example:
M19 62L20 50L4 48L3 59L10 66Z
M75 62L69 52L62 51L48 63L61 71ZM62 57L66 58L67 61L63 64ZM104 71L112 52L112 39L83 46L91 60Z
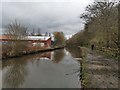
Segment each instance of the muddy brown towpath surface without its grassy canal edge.
M86 59L87 88L118 88L118 63L89 51Z

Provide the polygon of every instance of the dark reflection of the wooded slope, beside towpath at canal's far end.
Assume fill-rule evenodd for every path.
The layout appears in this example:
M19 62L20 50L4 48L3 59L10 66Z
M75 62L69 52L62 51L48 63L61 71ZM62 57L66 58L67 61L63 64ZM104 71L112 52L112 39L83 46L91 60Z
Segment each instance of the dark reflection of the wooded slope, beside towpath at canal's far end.
M66 48L67 51L70 52L70 54L72 55L72 57L74 58L82 58L82 51L79 47L68 47Z

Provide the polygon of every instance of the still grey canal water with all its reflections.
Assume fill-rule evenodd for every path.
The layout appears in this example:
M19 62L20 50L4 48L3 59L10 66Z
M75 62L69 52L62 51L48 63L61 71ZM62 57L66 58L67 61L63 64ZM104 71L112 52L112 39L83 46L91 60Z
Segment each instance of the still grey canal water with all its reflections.
M81 88L79 48L2 61L2 88Z

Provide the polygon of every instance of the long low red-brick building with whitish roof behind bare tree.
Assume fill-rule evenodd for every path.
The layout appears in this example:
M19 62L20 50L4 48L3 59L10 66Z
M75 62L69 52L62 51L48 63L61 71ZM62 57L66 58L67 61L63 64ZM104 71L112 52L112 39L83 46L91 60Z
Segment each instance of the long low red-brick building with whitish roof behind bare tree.
M11 39L10 36L1 35L0 43L7 44L9 41L15 41ZM50 36L26 36L26 38L21 39L21 41L28 41L29 46L41 46L44 48L51 47L51 37Z

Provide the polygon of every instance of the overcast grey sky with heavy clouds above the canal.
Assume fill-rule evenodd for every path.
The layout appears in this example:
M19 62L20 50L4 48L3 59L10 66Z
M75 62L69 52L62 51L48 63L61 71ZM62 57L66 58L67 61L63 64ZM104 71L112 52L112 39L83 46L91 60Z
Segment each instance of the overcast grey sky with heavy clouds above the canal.
M65 34L75 34L83 29L79 16L92 1L3 0L0 28L4 28L16 19L29 27L29 30L34 27L35 29L40 28L42 33L63 31Z

